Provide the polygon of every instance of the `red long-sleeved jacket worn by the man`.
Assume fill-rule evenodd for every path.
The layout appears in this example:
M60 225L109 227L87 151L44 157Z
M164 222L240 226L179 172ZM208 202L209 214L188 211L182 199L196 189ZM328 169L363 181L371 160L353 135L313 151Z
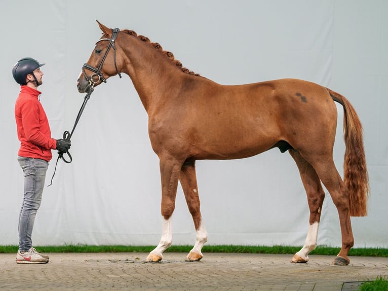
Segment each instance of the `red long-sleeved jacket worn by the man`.
M15 104L15 118L20 140L18 155L50 161L51 150L57 148L57 141L51 138L46 113L38 97L42 92L28 86L20 87Z

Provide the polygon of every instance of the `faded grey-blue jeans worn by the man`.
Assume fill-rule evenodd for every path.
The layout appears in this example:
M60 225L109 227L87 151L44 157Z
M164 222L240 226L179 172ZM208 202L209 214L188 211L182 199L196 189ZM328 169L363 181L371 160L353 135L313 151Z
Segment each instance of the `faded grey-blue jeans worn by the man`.
M41 159L18 157L24 173L24 198L19 214L19 250L32 246L32 229L35 215L41 206L43 187L49 163Z

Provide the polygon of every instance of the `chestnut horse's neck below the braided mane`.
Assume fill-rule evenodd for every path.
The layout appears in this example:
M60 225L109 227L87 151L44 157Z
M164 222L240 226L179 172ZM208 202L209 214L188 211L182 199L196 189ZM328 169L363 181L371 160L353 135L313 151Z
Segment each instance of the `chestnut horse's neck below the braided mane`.
M153 107L158 106L163 93L170 91L184 74L161 52L135 37L129 37L124 51L128 58L126 72L149 114Z

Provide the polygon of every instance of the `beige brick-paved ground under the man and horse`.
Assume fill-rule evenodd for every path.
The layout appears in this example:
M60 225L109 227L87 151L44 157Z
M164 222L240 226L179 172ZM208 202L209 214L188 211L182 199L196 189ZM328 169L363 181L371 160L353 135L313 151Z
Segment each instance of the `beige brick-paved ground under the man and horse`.
M388 276L388 258L351 257L331 266L332 256L204 253L184 262L185 253L145 263L147 253L48 253L50 262L19 265L16 254L0 254L1 290L357 290L359 282Z

